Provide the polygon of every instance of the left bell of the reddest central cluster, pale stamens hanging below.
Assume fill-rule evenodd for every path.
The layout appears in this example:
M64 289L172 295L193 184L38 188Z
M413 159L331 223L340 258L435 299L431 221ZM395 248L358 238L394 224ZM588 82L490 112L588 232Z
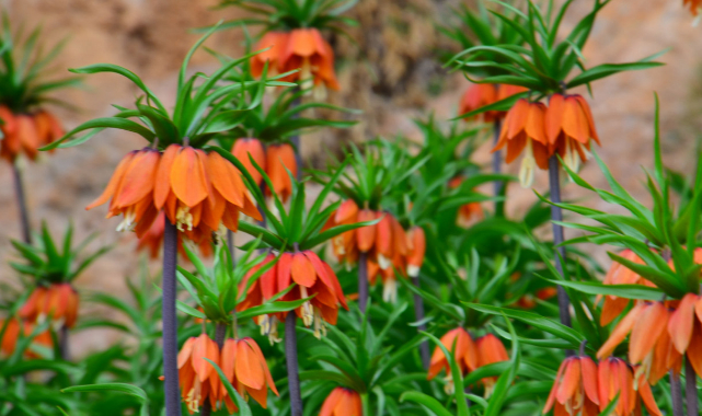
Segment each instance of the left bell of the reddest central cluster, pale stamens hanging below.
M285 288L278 288L278 269L277 264L274 264L269 269L261 275L253 284L250 284L251 277L271 262L275 262L276 256L268 254L263 262L253 266L244 276L241 284L239 284L239 291L246 291L243 301L237 305L238 311L245 311L246 309L258 307L265 301L271 300L278 291ZM254 317L256 324L261 326L261 335L268 336L268 340L273 345L279 343L281 339L278 337L278 323L283 320L284 313L265 314Z

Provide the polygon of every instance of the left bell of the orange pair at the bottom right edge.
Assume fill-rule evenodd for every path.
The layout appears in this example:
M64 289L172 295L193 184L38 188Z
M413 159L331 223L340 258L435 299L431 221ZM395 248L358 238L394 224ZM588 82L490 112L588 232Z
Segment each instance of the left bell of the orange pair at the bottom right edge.
M568 357L559 368L543 414L555 405L555 415L597 416L599 389L597 365L590 357Z

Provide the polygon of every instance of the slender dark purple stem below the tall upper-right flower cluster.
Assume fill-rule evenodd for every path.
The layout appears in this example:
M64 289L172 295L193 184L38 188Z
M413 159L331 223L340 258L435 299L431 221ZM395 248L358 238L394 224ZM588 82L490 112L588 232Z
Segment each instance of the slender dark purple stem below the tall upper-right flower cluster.
M551 188L551 201L554 204L561 203L561 182L559 180L559 159L556 155L549 158L549 185ZM551 206L551 221L553 223L553 245L555 247L555 268L565 277L564 267L561 261L565 262L565 247L561 245L564 241L563 238L563 227L557 224L555 221L563 221L563 210L561 207L555 205ZM571 326L571 311L568 300L568 294L565 292L562 286L559 285L559 315L561 317L561 323L565 326ZM566 355L573 355L573 351L567 350Z

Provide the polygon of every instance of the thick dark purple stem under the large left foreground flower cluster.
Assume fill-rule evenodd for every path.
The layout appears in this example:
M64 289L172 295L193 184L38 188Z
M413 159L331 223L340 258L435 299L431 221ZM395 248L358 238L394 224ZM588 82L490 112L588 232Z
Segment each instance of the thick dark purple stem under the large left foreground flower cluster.
M175 266L177 230L165 217L163 230L163 375L166 416L181 415L181 395L177 379L177 320L175 316Z

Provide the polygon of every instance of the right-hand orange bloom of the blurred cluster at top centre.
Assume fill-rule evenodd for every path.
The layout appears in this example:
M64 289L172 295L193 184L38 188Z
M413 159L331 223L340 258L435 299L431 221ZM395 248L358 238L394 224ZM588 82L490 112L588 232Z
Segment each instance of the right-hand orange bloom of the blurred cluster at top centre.
M288 43L280 56L280 71L294 69L300 72L292 74L291 81L312 79L315 86L338 90L334 73L334 50L314 28L296 28L290 32Z

